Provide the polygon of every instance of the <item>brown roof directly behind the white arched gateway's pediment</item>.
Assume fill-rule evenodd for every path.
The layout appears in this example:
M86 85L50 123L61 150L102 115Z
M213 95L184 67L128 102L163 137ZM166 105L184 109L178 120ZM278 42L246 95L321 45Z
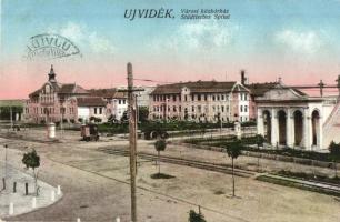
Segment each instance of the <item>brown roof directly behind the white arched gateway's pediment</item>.
M281 84L279 82L253 83L253 84L248 84L246 87L250 90L251 94L254 97L262 97L266 92L274 88L290 89L301 97L307 95L304 92L296 88L286 87L284 84Z

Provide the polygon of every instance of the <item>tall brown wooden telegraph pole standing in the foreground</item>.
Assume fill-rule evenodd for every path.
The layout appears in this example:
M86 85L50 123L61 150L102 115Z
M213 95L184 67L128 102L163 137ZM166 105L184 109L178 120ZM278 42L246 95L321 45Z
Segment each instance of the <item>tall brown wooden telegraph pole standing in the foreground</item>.
M136 109L133 95L133 74L132 64L128 63L128 111L129 111L129 141L130 141L130 185L131 185L131 221L137 222L137 204L136 204Z

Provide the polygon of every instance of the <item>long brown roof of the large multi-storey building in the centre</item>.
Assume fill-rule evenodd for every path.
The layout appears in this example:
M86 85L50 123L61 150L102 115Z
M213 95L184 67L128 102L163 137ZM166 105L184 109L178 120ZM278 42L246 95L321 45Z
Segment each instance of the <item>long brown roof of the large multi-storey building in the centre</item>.
M188 88L192 93L230 92L237 82L197 81L179 82L157 85L151 94L178 94L182 88Z

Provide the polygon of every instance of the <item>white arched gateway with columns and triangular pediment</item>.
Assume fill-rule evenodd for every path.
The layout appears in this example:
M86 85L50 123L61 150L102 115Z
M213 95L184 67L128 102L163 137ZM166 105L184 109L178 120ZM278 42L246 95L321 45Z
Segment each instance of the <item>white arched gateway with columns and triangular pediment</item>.
M277 83L254 100L258 133L271 145L307 150L327 148L322 143L322 112L331 112L336 99L311 98Z

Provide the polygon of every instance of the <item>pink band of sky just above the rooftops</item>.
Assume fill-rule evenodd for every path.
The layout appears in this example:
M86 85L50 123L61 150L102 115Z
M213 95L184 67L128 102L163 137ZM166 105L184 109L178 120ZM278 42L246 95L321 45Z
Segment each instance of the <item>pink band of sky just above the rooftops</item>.
M174 65L169 62L133 62L134 78L152 79L159 82L217 80L239 81L239 65L192 65L186 62ZM127 61L44 61L44 62L7 62L2 67L0 75L0 99L26 99L28 94L39 89L47 80L50 64L54 65L57 80L61 83L77 83L86 89L110 88L126 84ZM279 75L286 84L317 84L320 79L324 83L336 84L337 73L332 68L324 69L321 65L316 70L303 70L300 67L280 68L281 72L272 67L263 67L259 63L249 63L247 75L250 82L274 81ZM280 74L281 73L281 74ZM283 74L282 74L283 73ZM330 74L332 73L332 74ZM150 85L152 83L136 81L138 85ZM153 83L157 84L157 83ZM332 89L331 91L334 91ZM329 91L329 90L326 90Z

